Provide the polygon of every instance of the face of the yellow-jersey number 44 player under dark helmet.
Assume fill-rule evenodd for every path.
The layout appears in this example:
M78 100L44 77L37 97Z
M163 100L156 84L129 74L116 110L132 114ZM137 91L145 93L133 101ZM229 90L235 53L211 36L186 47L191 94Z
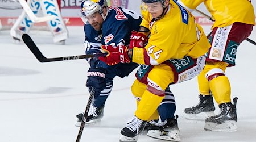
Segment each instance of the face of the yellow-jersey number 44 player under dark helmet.
M144 5L153 18L158 18L163 13L163 6L160 1L145 3Z

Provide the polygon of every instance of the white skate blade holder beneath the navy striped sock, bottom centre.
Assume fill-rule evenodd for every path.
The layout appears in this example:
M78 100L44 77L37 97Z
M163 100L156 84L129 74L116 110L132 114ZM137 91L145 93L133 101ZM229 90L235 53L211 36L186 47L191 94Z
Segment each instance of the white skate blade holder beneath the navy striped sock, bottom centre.
M154 139L159 139L159 140L168 140L168 141L180 141L180 132L175 132L175 133L168 133L167 135L163 135L163 133L159 130L148 130L147 136L152 137Z

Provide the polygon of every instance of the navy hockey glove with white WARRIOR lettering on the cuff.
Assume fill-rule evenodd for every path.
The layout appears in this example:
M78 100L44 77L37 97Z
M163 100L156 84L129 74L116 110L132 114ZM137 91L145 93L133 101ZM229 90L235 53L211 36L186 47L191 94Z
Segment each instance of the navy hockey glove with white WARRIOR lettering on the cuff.
M92 87L94 88L94 98L97 98L106 87L105 76L106 70L104 68L89 68L86 87L88 87L89 91L92 90Z

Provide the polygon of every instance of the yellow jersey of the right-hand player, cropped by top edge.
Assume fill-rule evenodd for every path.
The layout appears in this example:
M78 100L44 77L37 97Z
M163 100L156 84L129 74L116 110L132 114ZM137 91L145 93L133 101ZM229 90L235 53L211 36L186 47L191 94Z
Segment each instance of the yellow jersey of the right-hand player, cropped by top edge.
M196 9L204 2L215 20L213 27L226 27L235 22L255 24L253 5L247 0L179 0L188 9Z

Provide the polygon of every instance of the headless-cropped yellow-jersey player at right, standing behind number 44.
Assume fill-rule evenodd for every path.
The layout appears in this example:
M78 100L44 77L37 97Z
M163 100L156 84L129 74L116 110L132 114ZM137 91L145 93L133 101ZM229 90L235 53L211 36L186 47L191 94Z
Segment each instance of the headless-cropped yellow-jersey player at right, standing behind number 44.
M251 34L255 24L253 5L247 0L179 0L180 5L189 11L204 2L207 10L215 20L209 41L212 47L207 53L204 70L197 77L200 102L185 109L188 119L205 119L205 130L236 131L236 102L231 103L231 88L227 67L235 65L237 48ZM238 8L239 7L239 8ZM220 107L220 113L214 114L213 98ZM208 118L209 117L209 118Z

